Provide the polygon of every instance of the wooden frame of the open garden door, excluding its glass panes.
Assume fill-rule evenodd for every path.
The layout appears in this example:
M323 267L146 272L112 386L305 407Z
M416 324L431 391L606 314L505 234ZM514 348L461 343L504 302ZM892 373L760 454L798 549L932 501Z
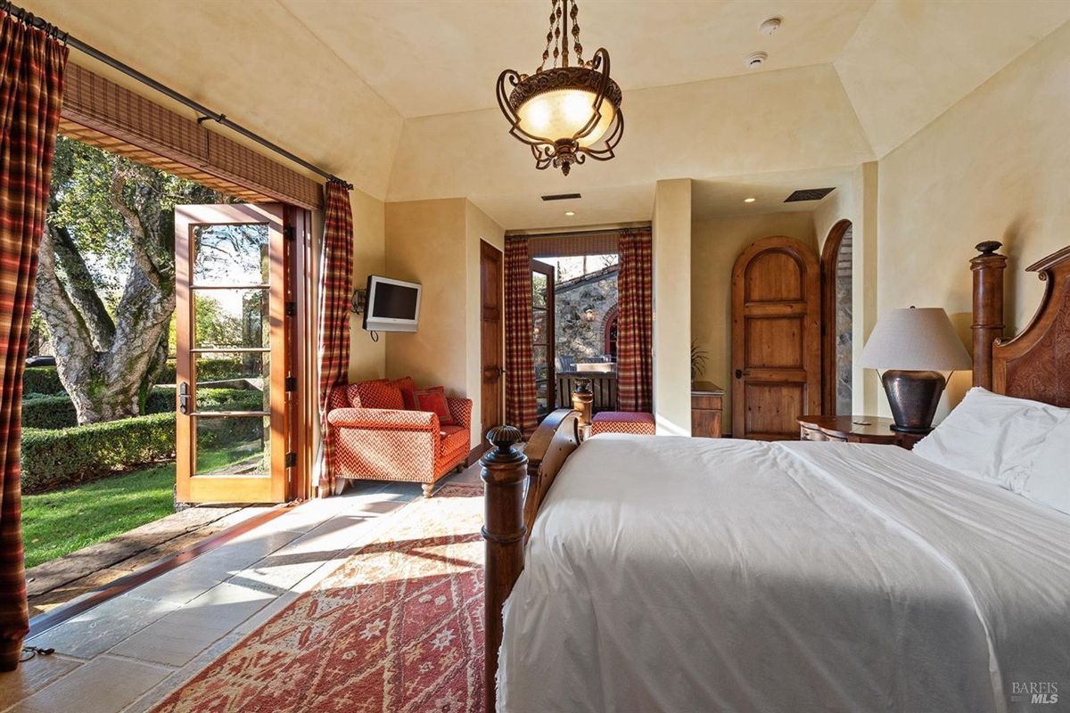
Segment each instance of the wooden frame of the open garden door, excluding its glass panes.
M235 219L235 216L239 219ZM195 243L190 237L196 226L268 224L269 230L269 317L272 324L281 324L281 329L271 329L269 340L271 373L269 385L271 403L266 415L271 428L271 474L270 495L260 497L263 493L261 477L241 476L207 476L196 483L197 444L194 434L194 419L197 409L197 382L194 378L194 361L197 358L196 344L192 342L194 332L193 305L193 266ZM294 325L287 319L291 296L295 296L291 284L292 267L288 258L295 257L294 250L288 246L289 235L295 234L288 230L286 221L287 206L282 203L221 203L174 206L174 264L175 264L175 312L177 312L177 353L175 361L175 499L179 502L285 502L291 496L293 474L286 465L289 451L296 430L297 419L292 419L291 399L287 391L288 376L293 375L292 350L290 339L293 337ZM185 246L185 249L181 249ZM187 286L179 289L185 276ZM188 325L185 326L185 325ZM220 348L220 351L233 351ZM281 367L281 368L279 368ZM297 378L300 383L302 379ZM183 414L183 396L181 386L188 385L186 407L190 413ZM294 409L295 410L295 409ZM256 412L253 412L256 413ZM251 418L251 417L250 417ZM180 448L179 445L184 447ZM275 471L281 468L282 472ZM182 474L188 474L183 478ZM196 486L197 492L194 492Z

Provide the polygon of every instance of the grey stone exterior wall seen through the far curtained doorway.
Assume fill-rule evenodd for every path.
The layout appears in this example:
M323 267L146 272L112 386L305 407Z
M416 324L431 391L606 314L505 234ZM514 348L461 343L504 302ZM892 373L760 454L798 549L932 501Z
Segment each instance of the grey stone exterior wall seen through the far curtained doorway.
M611 265L554 288L554 353L572 357L575 363L602 361L606 354L606 320L616 313L617 266ZM594 320L585 317L587 309ZM567 359L566 359L567 360Z

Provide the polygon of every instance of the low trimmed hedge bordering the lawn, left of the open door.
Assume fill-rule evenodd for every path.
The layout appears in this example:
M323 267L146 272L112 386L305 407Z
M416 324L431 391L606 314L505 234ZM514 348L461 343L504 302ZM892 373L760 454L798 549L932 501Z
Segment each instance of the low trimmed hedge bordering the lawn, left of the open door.
M22 490L40 492L174 455L174 415L22 431Z

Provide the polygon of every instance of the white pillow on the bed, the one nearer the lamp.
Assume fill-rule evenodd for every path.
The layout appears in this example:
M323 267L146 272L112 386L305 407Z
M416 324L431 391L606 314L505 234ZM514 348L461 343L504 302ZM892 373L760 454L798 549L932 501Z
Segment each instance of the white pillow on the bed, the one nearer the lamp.
M1021 493L1048 434L1067 414L1070 409L975 387L914 452Z

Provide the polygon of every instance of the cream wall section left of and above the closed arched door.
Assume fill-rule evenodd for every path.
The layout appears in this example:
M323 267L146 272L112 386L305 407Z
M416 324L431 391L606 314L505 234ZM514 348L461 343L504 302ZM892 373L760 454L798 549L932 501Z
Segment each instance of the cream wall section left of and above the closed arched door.
M813 214L706 217L692 227L691 339L707 353L699 378L724 387L727 433L732 431L732 267L748 245L769 235L788 235L816 248Z

